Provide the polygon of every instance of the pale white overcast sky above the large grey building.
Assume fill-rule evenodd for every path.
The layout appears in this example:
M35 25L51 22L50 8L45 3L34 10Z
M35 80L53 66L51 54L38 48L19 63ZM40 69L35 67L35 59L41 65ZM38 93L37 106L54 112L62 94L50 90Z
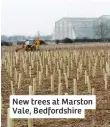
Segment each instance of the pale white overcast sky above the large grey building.
M110 15L110 0L2 0L1 34L49 35L63 17L102 15Z

